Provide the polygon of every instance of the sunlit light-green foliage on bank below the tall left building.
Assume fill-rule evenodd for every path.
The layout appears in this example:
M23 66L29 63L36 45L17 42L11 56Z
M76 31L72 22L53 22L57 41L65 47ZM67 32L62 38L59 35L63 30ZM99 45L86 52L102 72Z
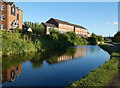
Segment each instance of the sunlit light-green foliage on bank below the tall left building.
M22 39L20 33L2 31L2 40L3 55L33 52L41 48L40 42Z

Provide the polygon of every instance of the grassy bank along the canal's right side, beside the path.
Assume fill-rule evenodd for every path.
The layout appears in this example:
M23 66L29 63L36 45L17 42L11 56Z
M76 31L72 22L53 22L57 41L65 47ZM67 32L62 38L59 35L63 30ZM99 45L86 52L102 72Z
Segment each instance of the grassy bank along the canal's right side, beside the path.
M113 77L118 73L119 52L115 48L102 44L100 45L104 50L111 54L109 61L106 61L99 68L92 70L85 78L72 83L68 88L75 87L90 87L90 86L108 86Z

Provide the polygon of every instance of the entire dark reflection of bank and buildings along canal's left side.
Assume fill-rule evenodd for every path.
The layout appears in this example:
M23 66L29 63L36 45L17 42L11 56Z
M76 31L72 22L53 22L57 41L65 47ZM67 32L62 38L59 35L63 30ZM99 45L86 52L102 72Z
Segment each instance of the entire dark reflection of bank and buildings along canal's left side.
M3 57L2 63L2 82L12 82L22 72L22 63L30 61L32 67L39 69L46 60L49 64L64 62L85 56L86 47L69 48L63 51L52 51L44 53L31 53L22 56Z

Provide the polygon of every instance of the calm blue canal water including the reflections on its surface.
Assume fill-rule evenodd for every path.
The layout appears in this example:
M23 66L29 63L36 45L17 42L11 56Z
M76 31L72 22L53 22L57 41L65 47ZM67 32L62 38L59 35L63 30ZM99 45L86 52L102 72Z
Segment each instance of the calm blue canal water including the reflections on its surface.
M3 58L3 86L68 86L98 68L110 55L99 46Z

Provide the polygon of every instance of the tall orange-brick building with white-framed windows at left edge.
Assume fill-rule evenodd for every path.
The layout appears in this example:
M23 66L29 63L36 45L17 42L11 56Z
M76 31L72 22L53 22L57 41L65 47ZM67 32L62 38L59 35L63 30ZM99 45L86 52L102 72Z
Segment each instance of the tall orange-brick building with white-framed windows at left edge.
M0 1L0 29L22 29L23 11L14 2Z

